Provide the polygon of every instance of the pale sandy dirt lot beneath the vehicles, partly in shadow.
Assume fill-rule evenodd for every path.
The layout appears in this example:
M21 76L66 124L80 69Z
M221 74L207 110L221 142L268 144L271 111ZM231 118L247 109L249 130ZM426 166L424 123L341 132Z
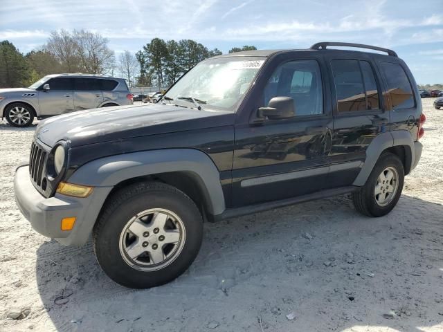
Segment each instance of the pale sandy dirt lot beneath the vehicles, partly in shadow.
M111 282L91 243L65 248L30 228L12 178L34 128L3 121L0 331L443 331L443 110L432 101L422 160L388 216L339 196L207 224L188 272L147 291Z

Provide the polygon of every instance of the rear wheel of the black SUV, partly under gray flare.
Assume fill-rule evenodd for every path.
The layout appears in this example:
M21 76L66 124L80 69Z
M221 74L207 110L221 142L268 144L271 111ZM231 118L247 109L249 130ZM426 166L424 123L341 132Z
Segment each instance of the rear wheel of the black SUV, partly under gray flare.
M386 175L386 178L382 176ZM388 180L390 174L392 178ZM386 183L383 181L386 179ZM377 183L379 183L377 185ZM404 167L401 160L391 153L381 154L365 185L352 193L357 211L365 216L384 216L400 199L404 184ZM379 194L376 194L376 189ZM392 193L389 191L392 190ZM386 199L383 201L383 199Z

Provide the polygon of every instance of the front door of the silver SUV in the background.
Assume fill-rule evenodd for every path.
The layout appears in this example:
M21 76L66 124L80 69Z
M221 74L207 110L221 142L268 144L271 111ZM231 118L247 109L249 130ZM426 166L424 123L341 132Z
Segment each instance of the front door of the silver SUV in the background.
M45 84L49 84L49 90L39 90L40 116L56 116L74 110L72 78L53 77Z

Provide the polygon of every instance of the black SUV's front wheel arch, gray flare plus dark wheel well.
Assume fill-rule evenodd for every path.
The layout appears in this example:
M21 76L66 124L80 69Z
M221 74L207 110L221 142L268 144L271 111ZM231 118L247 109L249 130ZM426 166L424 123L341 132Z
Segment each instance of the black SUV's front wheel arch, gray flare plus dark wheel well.
M160 181L181 190L201 212L225 210L219 171L213 160L196 149L164 149L100 158L87 163L68 179L70 183L116 190L139 181Z

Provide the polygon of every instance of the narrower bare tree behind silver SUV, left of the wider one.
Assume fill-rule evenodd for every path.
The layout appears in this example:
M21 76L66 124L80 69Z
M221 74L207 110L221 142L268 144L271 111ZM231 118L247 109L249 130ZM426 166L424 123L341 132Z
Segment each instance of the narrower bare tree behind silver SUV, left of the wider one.
M81 70L78 47L69 31L53 31L45 48L62 64L64 71L75 73Z

